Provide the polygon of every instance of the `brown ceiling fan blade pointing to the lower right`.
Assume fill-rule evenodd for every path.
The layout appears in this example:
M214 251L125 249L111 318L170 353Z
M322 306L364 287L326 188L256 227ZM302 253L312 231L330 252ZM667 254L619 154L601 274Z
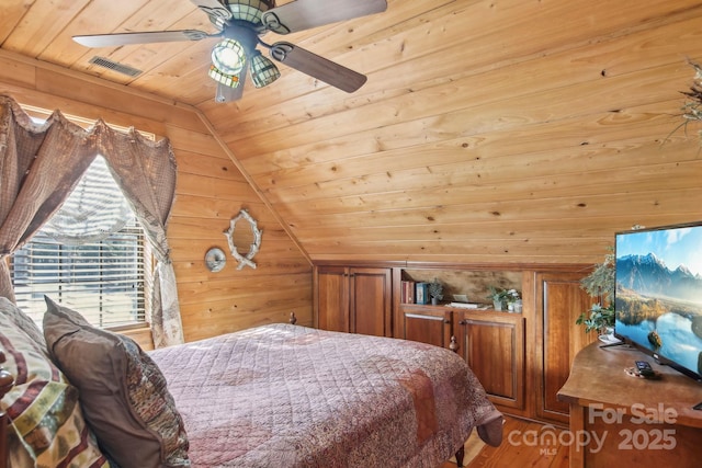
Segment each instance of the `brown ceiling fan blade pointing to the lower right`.
M286 42L273 44L270 55L273 59L291 68L348 93L361 88L367 79L364 75Z

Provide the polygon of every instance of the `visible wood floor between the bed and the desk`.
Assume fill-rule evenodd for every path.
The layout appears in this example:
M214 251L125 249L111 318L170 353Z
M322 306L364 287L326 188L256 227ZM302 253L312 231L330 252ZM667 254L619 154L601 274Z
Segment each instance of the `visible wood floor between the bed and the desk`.
M531 443L542 433L544 424L510 416L506 416L505 420L505 438L499 447L484 444L477 433L473 432L465 443L465 459L471 460L465 465L466 468L568 468L568 447ZM556 429L556 434L564 430ZM522 438L523 434L528 434L525 438ZM473 456L476 452L477 455ZM455 459L445 461L439 468L456 468Z

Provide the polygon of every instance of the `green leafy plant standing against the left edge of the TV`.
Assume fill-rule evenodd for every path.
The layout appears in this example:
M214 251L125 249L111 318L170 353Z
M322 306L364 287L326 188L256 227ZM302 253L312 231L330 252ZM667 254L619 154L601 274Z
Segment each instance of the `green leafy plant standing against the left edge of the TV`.
M580 281L580 287L599 301L580 313L576 323L585 326L587 332L611 334L614 331L614 253L607 254L604 261Z

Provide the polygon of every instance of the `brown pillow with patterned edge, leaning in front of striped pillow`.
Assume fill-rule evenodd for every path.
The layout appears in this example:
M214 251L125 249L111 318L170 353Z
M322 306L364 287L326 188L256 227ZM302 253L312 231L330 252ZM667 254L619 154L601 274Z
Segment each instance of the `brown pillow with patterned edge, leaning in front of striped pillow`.
M49 353L78 387L103 450L124 467L190 467L182 418L154 361L131 338L45 299Z

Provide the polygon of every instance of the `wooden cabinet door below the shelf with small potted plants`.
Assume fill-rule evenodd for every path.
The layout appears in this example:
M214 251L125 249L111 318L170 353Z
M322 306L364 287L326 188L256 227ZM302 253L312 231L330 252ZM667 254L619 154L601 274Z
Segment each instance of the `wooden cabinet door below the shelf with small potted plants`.
M458 352L490 400L506 408L524 407L524 318L521 313L455 312Z

